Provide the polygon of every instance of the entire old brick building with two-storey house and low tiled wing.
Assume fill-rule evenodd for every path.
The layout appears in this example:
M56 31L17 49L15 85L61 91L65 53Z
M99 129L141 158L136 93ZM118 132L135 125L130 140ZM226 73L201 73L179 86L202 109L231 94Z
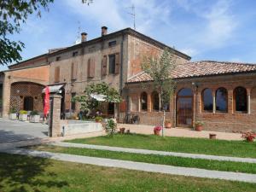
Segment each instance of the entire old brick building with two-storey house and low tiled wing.
M107 103L103 113L120 122L125 122L129 113L137 114L141 124L160 124L159 94L153 86L143 90L142 82L150 85L151 79L141 71L140 63L144 55L159 55L168 48L177 58L177 68L172 73L177 89L166 114L172 126L192 126L196 120L203 120L208 130L255 130L256 66L191 62L189 55L131 28L108 34L108 28L103 26L101 33L101 37L87 40L83 32L79 44L51 49L2 72L3 116L11 107L41 111L41 90L45 85L60 89L62 113L79 112L79 104L73 104L71 98L83 94L88 84L106 82L120 91L124 102Z

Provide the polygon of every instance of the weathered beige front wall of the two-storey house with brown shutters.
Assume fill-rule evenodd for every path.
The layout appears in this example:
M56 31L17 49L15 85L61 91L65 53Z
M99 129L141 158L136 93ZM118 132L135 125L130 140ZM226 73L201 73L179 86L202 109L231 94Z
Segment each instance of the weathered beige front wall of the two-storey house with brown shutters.
M116 44L109 46L109 42L116 41ZM123 44L123 48L122 48ZM119 53L120 61L121 56L123 58L123 65L127 63L127 36L116 37L106 39L105 41L84 45L79 49L73 49L65 51L59 55L54 55L49 57L49 84L65 84L65 100L66 100L66 109L71 109L71 98L72 93L75 93L77 96L84 93L84 89L88 84L105 82L110 84L116 90L121 88L120 85L120 76L124 76L125 71L121 73L107 73L107 75L102 75L102 59L104 55L113 55ZM123 50L123 55L121 51ZM73 52L78 52L78 55L73 56ZM56 61L56 58L60 57L60 61ZM88 63L94 61L95 73L94 77L88 77ZM76 79L72 79L72 65L73 63L77 65ZM121 63L120 63L121 65ZM60 67L60 81L55 82L55 68ZM121 68L119 68L121 70ZM125 70L125 69L123 69ZM108 70L107 70L108 71ZM125 79L124 79L125 81ZM123 83L124 84L124 83ZM77 112L79 111L79 104L76 106Z

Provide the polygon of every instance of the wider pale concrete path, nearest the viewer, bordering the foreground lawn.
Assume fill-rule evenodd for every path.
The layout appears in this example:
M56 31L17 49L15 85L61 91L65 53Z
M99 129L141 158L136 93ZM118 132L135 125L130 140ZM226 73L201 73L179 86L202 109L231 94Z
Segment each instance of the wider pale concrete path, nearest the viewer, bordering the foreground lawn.
M69 162L90 164L96 166L125 168L129 170L137 170L144 172L159 172L181 176L219 178L232 181L256 183L256 174L247 174L239 172L218 172L197 168L141 163L129 160L111 160L105 158L87 157L73 154L55 154L50 152L42 152L29 149L11 149L6 151L6 153L31 155L35 157L49 158L53 160L64 160Z

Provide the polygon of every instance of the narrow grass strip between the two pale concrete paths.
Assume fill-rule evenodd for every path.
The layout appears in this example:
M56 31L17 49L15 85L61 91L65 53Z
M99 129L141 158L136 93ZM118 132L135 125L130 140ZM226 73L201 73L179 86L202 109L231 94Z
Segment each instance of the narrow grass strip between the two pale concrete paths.
M169 166L195 167L207 170L217 170L225 172L247 172L256 174L256 164L253 163L241 163L218 160L199 160L183 157L163 156L156 154L131 154L89 148L63 148L49 145L38 146L34 147L33 149L61 154L77 154L115 160L132 160L137 162L146 162Z

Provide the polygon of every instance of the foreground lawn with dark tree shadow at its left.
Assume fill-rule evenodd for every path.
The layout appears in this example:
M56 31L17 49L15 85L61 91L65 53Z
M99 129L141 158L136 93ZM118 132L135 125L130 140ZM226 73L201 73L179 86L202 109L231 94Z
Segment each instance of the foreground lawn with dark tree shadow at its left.
M182 177L0 154L0 191L254 192L255 183Z

